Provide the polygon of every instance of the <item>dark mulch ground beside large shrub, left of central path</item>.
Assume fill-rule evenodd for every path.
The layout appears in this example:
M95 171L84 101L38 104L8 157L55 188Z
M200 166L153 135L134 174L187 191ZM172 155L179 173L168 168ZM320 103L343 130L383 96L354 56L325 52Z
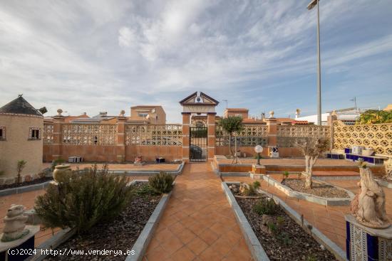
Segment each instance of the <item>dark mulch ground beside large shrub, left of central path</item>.
M48 256L45 260L125 260L126 251L132 250L162 196L152 193L146 183L138 182L135 186L138 193L120 215L108 223L99 223L88 231L88 234L76 235L57 247L57 250L71 249L84 252L117 250L122 251L123 255L57 255Z

